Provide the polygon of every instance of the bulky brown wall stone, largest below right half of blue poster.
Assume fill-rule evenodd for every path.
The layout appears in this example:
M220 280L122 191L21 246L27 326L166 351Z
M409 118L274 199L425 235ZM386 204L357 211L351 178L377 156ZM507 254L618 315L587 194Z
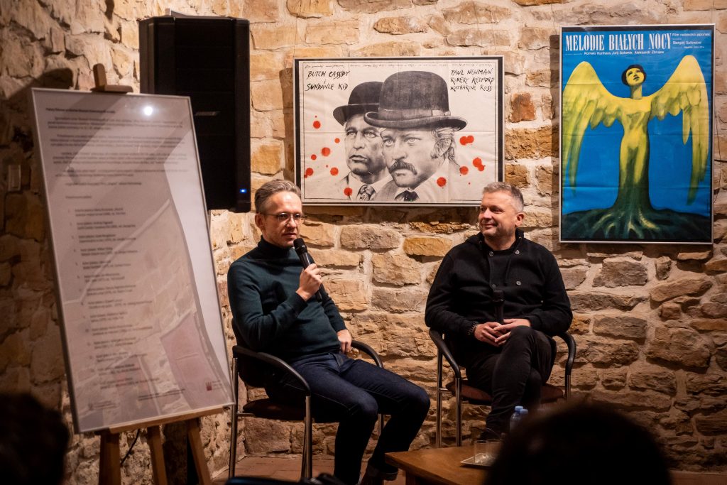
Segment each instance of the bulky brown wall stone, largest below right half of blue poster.
M706 368L710 364L707 340L691 329L654 329L646 356L686 367Z

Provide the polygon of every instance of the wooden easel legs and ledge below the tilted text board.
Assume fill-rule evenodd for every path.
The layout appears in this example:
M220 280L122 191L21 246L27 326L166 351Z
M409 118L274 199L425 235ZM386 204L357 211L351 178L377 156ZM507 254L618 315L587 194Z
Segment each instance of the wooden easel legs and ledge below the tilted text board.
M124 431L132 431L146 428L147 441L151 452L151 473L153 481L157 485L166 485L166 470L164 469L164 453L161 449L161 425L171 422L184 421L187 425L187 439L192 449L194 468L197 470L199 483L212 485L212 478L209 475L207 462L202 449L202 439L199 435L199 418L209 414L219 414L224 408L212 409L206 412L185 414L183 416L169 417L166 419L145 422L143 425L119 426L108 428L100 432L101 452L98 473L99 485L121 485L121 458L119 449L119 434Z

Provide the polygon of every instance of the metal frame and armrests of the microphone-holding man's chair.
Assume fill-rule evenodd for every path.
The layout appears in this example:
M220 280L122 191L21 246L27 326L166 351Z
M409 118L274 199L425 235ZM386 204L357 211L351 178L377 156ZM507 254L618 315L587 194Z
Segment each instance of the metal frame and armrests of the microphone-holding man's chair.
M366 345L364 342L358 342L358 340L353 340L351 342L351 347L356 348L360 350L363 353L366 353L373 361L374 364L384 368L384 364L381 361L381 358L379 358L379 354L376 353L376 351L371 348L369 345ZM291 412L297 412L302 411L304 416L302 418L303 420L303 452L302 452L302 463L300 467L300 479L307 480L309 478L312 478L313 476L313 416L311 414L310 409L310 386L308 385L308 382L305 381L305 379L295 370L287 364L284 360L281 358L278 358L276 356L270 355L269 353L265 352L255 352L254 350L250 350L249 348L244 348L241 345L235 345L233 347L233 379L234 379L234 385L233 385L233 405L230 409L230 417L231 417L231 425L230 425L230 469L228 472L228 478L233 478L235 475L235 464L236 464L236 458L237 458L237 429L238 429L238 419L241 417L260 417L262 419L273 419L270 417L260 416L258 414L254 414L252 412L246 412L244 410L240 410L240 406L238 404L238 392L239 392L239 382L241 380L241 377L239 377L239 362L238 362L238 356L247 356L250 358L257 359L258 361L261 361L265 364L268 364L270 366L275 367L276 369L279 369L283 372L286 372L287 374L290 374L292 377L294 377L294 380L300 385L300 387L303 390L303 393L305 394L305 404L302 407L302 409L295 408L294 406L284 406L281 404L278 404L280 407L284 407L289 409ZM257 387L252 386L250 387ZM251 401L254 402L254 401ZM383 429L384 425L384 417L383 414L379 414L379 433Z

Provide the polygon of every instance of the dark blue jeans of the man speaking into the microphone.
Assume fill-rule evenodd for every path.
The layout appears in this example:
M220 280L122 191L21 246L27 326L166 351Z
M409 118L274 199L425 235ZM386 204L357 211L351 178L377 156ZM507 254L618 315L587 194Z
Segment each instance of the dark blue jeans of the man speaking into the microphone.
M379 436L367 471L393 479L396 468L384 462L387 452L409 449L427 412L429 396L403 377L342 353L306 356L289 362L310 385L313 417L339 422L334 476L356 484L361 460L379 413L390 416ZM289 380L266 386L276 401L300 403L300 388Z

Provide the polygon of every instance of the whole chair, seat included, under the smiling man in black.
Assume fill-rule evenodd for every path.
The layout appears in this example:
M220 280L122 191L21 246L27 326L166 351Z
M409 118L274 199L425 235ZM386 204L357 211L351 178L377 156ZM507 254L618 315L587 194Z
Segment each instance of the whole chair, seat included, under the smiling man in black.
M480 406L491 406L492 396L485 391L475 388L467 382L466 379L462 379L462 366L457 364L454 360L454 355L449 348L449 345L444 341L442 334L436 330L430 329L429 336L437 347L437 424L435 434L435 446L441 448L442 444L442 396L454 396L455 406L455 438L457 446L462 446L462 401L466 401L470 404L477 404ZM560 388L552 384L546 384L542 388L541 402L552 403L559 399L568 399L571 393L571 371L573 370L573 361L576 357L576 341L573 339L571 334L563 332L558 334L568 345L568 358L566 360L566 376L565 386ZM442 358L445 358L452 372L454 373L454 380L447 382L443 385L443 362Z

